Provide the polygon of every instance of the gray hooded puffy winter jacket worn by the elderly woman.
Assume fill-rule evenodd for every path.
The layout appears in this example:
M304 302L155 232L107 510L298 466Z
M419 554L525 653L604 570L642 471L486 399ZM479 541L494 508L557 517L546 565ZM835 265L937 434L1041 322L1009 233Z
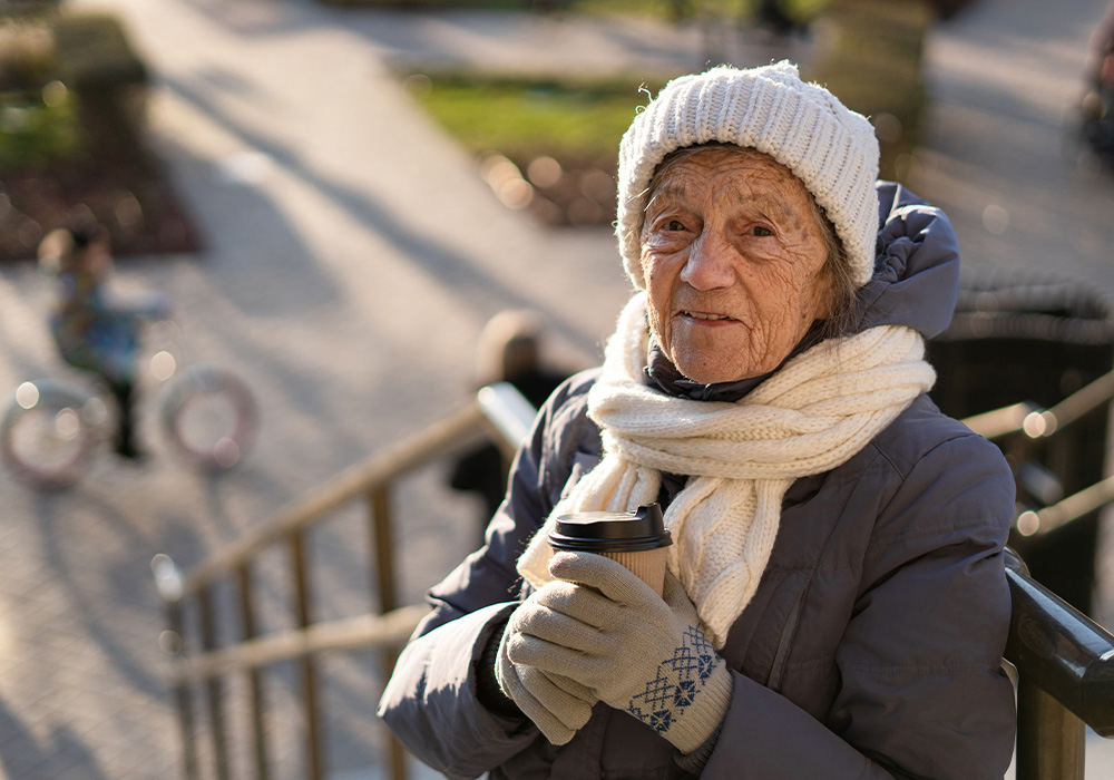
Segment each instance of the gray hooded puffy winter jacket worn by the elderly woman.
M901 187L880 184L879 195L859 324L931 338L952 312L955 235ZM747 389L651 373L663 392L690 397ZM573 378L543 408L486 545L430 592L433 611L383 694L388 725L451 778L691 777L668 742L605 704L554 747L514 708L482 703L488 646L524 594L515 560L563 490L598 462L599 432L585 413L595 376ZM664 501L680 481L664 480ZM798 479L758 593L721 651L734 692L700 777L1001 778L1014 735L1000 670L1013 507L998 449L925 396L842 466Z

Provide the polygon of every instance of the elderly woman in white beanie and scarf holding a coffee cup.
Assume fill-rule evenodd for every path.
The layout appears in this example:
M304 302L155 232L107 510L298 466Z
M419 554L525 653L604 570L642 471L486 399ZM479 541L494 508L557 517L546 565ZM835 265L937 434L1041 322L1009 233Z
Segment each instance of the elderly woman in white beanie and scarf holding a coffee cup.
M1000 778L1001 455L927 398L946 217L788 62L674 80L619 156L638 287L549 399L486 545L431 592L381 714L451 778ZM553 554L658 501L664 598Z

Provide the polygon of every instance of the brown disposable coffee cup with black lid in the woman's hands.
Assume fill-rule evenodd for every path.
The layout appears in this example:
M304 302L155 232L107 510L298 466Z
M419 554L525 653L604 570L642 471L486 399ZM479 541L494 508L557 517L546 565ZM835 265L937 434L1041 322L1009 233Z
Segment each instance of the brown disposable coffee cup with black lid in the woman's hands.
M673 544L662 508L646 504L636 511L580 511L561 515L549 533L549 546L614 558L657 595L665 587L665 559Z

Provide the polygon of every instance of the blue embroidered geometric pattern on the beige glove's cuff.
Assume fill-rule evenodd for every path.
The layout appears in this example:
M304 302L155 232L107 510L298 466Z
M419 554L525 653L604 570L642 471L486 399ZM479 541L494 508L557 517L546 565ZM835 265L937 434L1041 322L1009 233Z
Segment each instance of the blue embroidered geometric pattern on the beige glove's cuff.
M681 638L681 646L662 662L646 689L631 700L627 712L664 734L703 690L712 676L715 660L715 651L704 632L690 626Z

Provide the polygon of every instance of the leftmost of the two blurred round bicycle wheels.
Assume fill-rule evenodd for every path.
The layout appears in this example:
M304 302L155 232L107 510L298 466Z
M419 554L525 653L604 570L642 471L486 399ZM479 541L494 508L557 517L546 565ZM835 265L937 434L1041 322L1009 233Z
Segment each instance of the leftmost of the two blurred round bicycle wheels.
M88 470L108 418L102 399L74 384L56 379L23 382L0 420L0 455L29 485L72 485Z

